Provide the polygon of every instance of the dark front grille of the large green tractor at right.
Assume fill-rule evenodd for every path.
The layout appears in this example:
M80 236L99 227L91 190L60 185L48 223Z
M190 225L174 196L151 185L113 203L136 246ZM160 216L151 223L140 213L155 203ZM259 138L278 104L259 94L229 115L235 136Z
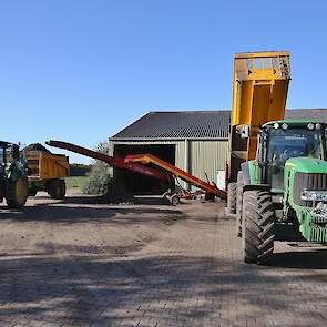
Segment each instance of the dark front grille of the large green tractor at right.
M294 203L302 206L313 206L311 201L300 200L303 190L327 190L327 174L296 173L294 181Z

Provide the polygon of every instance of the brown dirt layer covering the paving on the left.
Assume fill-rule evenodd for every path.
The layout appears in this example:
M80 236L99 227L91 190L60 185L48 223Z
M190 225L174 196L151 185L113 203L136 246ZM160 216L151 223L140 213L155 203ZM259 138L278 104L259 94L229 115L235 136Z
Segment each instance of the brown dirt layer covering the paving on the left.
M0 206L0 256L127 256L185 216L161 197L143 197L141 202L109 205L102 197L70 191L64 201L40 192L22 211Z

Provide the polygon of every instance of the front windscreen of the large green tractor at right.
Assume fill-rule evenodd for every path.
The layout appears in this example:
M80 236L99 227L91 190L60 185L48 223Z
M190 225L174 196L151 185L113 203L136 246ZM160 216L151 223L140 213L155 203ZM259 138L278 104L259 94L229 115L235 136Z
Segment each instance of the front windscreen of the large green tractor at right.
M303 127L272 129L267 149L267 182L273 188L284 186L284 166L290 157L323 157L321 132Z

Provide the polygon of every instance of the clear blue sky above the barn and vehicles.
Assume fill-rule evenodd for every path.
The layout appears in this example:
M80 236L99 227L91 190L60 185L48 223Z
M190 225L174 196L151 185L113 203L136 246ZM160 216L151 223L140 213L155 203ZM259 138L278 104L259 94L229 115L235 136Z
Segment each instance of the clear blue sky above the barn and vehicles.
M150 110L229 109L243 51L289 50L287 106L326 108L326 3L0 0L0 139L92 147Z

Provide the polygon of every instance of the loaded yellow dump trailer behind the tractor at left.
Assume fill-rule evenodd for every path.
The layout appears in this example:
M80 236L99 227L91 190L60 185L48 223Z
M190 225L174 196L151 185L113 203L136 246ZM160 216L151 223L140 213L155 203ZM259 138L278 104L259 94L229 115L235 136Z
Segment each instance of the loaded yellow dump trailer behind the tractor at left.
M29 146L25 157L29 168L29 193L34 196L38 191L45 191L53 198L64 198L65 182L69 176L69 159L65 155L52 154L47 149Z

